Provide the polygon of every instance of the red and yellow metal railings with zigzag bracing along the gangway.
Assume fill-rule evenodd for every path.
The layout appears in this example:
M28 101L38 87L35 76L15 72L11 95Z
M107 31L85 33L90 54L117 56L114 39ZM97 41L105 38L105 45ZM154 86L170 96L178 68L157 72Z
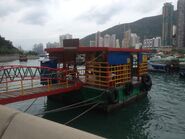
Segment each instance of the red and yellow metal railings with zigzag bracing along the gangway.
M77 74L72 70L36 66L2 66L0 68L0 96L33 93L38 89L60 86L68 88Z

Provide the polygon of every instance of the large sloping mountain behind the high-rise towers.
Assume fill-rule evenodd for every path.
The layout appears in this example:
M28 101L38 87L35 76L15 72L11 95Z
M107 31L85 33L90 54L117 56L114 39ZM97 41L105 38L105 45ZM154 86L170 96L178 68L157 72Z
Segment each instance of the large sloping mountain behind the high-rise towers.
M176 25L176 14L177 12L175 11L173 20L174 25ZM124 37L124 30L127 31L128 29L131 29L132 33L136 33L138 36L140 36L141 41L143 41L144 38L161 36L162 15L146 17L132 23L116 25L104 30L101 32L101 35L104 36L105 34L116 34L116 38L121 42ZM82 38L80 43L82 46L89 46L90 40L95 40L95 34L91 34Z

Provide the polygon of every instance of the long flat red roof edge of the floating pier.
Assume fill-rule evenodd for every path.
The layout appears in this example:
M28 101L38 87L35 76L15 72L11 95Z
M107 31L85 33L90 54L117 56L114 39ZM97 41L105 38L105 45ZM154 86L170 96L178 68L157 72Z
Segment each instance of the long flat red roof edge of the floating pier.
M134 49L134 48L111 48L111 47L77 47L77 48L46 48L45 51L48 53L62 53L65 50L75 50L78 53L92 53L92 52L129 52L129 53L149 53L148 49Z

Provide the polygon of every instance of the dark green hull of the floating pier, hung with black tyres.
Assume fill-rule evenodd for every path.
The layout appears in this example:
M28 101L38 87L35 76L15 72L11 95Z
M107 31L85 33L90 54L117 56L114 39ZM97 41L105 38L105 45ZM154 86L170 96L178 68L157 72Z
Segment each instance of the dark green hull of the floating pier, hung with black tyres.
M80 90L72 91L66 94L48 96L50 100L59 101L66 105L89 100L90 102L101 102L97 107L100 110L111 112L147 96L148 91L142 89L142 84L135 84L128 89L125 86L114 89L100 89L90 86L84 86ZM94 99L93 99L94 98Z

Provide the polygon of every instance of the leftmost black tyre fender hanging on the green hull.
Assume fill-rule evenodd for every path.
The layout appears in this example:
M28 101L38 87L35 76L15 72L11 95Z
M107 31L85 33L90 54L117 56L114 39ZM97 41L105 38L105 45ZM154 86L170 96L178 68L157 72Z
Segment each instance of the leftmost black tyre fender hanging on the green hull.
M113 88L106 92L108 103L115 104L118 102L118 90Z

